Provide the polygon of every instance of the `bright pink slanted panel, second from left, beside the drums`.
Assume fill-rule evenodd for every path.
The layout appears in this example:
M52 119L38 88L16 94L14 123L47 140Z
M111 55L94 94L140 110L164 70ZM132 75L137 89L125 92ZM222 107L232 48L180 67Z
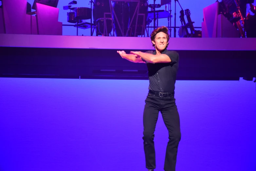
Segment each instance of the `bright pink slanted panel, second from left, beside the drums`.
M62 24L58 22L59 9L36 4L38 33L40 35L62 35Z

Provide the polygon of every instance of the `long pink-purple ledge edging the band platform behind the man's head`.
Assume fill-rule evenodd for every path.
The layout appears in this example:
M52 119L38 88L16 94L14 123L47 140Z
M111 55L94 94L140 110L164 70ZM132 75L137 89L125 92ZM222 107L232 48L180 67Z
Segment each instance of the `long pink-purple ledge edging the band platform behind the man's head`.
M256 38L170 38L173 50L256 50ZM149 37L0 34L0 46L80 49L154 49Z

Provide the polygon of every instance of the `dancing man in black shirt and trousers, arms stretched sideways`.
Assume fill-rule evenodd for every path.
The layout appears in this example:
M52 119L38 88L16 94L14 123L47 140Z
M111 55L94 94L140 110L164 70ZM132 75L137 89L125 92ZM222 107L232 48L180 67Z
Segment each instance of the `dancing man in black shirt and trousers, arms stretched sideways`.
M165 171L175 171L178 144L181 139L180 119L175 104L174 89L178 70L179 55L167 50L169 44L168 28L158 27L151 33L155 51L131 52L117 51L129 61L147 63L149 75L149 93L145 100L143 112L143 144L146 168L155 169L154 132L159 111L169 132L169 142L165 154Z

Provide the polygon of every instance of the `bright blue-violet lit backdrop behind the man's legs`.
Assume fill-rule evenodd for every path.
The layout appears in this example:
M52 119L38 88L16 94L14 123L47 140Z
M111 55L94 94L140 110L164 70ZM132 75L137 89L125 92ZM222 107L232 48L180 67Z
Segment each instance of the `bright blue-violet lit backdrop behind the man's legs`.
M143 171L148 80L0 78L1 171ZM256 170L252 81L177 81L177 171ZM155 131L156 171L168 131Z

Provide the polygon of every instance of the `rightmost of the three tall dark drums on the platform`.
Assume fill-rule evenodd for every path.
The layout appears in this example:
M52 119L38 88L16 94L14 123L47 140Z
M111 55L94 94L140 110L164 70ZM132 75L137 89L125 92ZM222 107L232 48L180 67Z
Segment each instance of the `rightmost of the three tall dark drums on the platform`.
M133 14L134 14L135 9L137 7L137 2L129 2L129 6L130 6L130 12L129 12L130 21L132 21ZM137 29L136 29L136 34L135 34L136 17L137 17L136 14L133 18L133 22L132 22L132 24L130 26L130 29L129 29L129 35L131 37L134 37L134 36L137 37L137 36L140 36L140 35L144 35L144 33L146 31L146 24L147 24L147 18L148 18L148 2L147 2L147 0L140 0L139 14L145 14L145 22L143 23L143 16L138 15ZM144 25L144 29L142 30L143 25ZM142 34L141 34L141 31L142 31Z

